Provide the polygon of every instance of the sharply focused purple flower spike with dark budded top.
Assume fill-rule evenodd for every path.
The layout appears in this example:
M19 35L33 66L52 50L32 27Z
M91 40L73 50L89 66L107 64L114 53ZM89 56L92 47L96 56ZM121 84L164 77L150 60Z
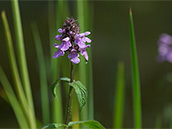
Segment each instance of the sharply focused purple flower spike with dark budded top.
M89 35L90 32L80 33L79 25L74 18L67 18L62 28L58 29L58 32L60 35L56 35L55 38L62 43L60 45L57 43L54 44L54 47L58 48L58 51L54 53L53 58L58 58L65 53L69 53L68 58L71 62L78 64L80 62L79 53L81 53L88 61L86 48L89 48L90 45L86 45L85 43L91 43L91 39L85 36Z

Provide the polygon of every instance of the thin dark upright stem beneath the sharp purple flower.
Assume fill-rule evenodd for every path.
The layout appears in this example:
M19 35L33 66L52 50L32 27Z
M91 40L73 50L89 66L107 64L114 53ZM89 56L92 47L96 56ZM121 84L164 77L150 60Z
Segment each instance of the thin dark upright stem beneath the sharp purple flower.
M73 66L73 63L71 62L70 83L73 82L73 75L74 75L74 66ZM66 121L65 121L66 125L68 125L70 118L71 118L72 89L73 88L70 86L69 96L68 96L68 104L67 104Z

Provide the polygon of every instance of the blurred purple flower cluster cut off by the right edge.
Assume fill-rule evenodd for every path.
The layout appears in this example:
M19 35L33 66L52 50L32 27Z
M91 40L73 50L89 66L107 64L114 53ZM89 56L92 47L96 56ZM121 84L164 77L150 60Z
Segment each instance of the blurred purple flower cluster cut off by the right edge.
M168 34L161 34L158 41L158 60L172 63L172 37Z

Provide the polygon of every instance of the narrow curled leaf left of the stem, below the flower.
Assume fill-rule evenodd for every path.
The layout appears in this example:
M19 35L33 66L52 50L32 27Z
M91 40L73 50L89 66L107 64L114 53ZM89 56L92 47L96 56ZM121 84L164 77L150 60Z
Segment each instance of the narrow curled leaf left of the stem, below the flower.
M60 81L65 81L65 82L69 83L70 78L62 77L62 78L57 79L55 82L53 82L51 84L50 89L51 89L51 91L52 91L55 98L57 98L56 87L59 86Z

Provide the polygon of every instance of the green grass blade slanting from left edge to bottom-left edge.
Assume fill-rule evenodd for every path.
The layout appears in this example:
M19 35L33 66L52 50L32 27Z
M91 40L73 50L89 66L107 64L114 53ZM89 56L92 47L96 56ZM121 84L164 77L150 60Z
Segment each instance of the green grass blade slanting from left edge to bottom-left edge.
M10 85L4 71L2 70L0 66L0 82L2 83L2 86L5 90L5 93L7 94L7 97L9 99L9 102L14 110L15 116L17 118L17 121L19 123L20 128L29 128L29 125L27 123L27 119L24 116L24 113L22 111L22 108L20 106L20 103L17 100L17 97L12 89L12 86Z

